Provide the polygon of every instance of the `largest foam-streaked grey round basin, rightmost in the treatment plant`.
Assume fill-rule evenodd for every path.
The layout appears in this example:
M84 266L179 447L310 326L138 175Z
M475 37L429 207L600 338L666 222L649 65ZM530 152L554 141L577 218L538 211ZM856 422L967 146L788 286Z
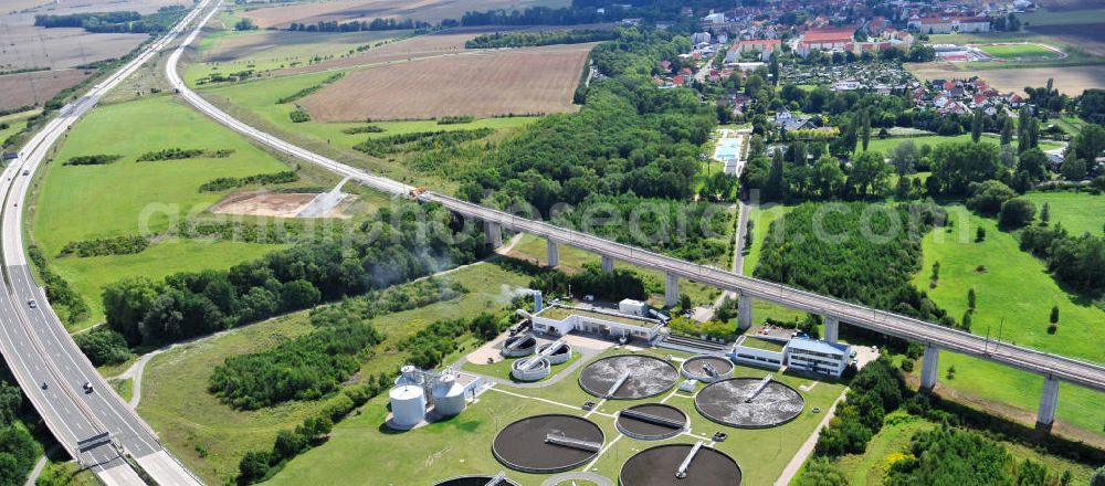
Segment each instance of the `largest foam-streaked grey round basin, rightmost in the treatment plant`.
M774 427L802 413L806 406L802 394L775 380L749 401L761 381L758 378L715 381L698 391L694 406L703 416L738 429Z

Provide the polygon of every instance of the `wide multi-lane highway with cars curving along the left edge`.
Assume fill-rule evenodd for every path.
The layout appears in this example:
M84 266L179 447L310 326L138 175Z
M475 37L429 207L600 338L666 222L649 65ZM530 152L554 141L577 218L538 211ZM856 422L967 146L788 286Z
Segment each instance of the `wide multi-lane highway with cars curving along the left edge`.
M200 485L115 393L76 347L27 263L23 208L34 173L66 130L145 62L171 44L211 0L201 1L166 35L74 102L63 106L2 172L3 288L0 352L62 446L108 486L145 485L127 458L157 484ZM92 391L85 390L85 383Z

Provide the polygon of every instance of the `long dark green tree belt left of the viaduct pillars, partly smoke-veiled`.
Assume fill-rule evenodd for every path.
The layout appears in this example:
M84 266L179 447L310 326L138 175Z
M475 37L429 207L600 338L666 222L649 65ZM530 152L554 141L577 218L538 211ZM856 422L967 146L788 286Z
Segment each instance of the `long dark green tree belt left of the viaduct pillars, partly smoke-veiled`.
M107 325L130 346L152 346L365 294L485 255L483 234L461 230L440 207L385 208L347 244L304 243L229 271L108 285Z

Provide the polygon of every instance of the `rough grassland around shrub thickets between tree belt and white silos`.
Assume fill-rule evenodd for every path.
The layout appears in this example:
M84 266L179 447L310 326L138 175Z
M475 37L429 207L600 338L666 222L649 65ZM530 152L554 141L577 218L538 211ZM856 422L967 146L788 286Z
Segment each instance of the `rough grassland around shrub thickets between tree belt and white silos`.
M461 268L442 279L460 282L471 293L455 300L373 319L372 324L387 339L365 362L360 376L398 369L404 355L394 349L396 342L430 323L498 308L509 302L509 289L528 283L528 277L493 263ZM234 477L245 451L267 450L280 430L295 427L306 416L317 413L325 402L291 402L256 411L235 411L207 392L208 377L228 357L267 349L311 329L307 314L297 313L159 355L146 368L138 412L191 471L209 484L223 484ZM464 342L459 352L477 346L470 339L457 341ZM348 419L357 420L360 416Z

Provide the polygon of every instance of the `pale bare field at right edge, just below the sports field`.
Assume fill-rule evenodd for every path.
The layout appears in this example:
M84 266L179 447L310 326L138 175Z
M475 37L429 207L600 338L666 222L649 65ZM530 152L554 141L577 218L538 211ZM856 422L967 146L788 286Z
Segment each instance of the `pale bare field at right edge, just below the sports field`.
M1075 96L1093 87L1105 87L1105 65L1060 67L1011 67L1001 70L964 70L940 63L909 64L909 71L922 80L979 76L1000 92L1024 94L1025 86L1043 86L1054 80L1055 89Z

